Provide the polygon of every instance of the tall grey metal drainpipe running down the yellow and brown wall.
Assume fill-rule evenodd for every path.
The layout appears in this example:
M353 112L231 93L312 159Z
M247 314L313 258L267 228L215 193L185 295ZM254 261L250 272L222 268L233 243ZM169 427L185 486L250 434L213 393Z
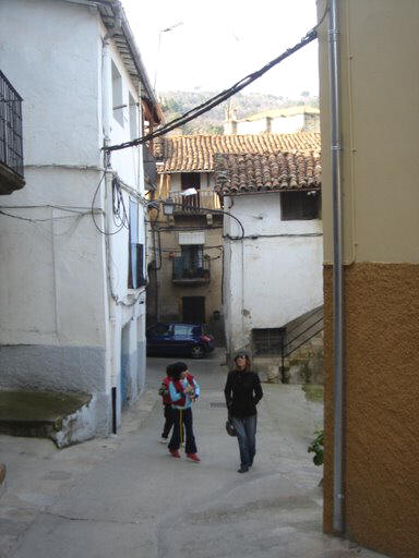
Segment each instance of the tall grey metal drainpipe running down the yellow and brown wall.
M343 437L344 437L344 320L343 320L343 228L342 228L342 131L338 0L331 0L328 17L328 72L332 111L333 202L333 335L334 335L334 459L333 529L344 531Z

